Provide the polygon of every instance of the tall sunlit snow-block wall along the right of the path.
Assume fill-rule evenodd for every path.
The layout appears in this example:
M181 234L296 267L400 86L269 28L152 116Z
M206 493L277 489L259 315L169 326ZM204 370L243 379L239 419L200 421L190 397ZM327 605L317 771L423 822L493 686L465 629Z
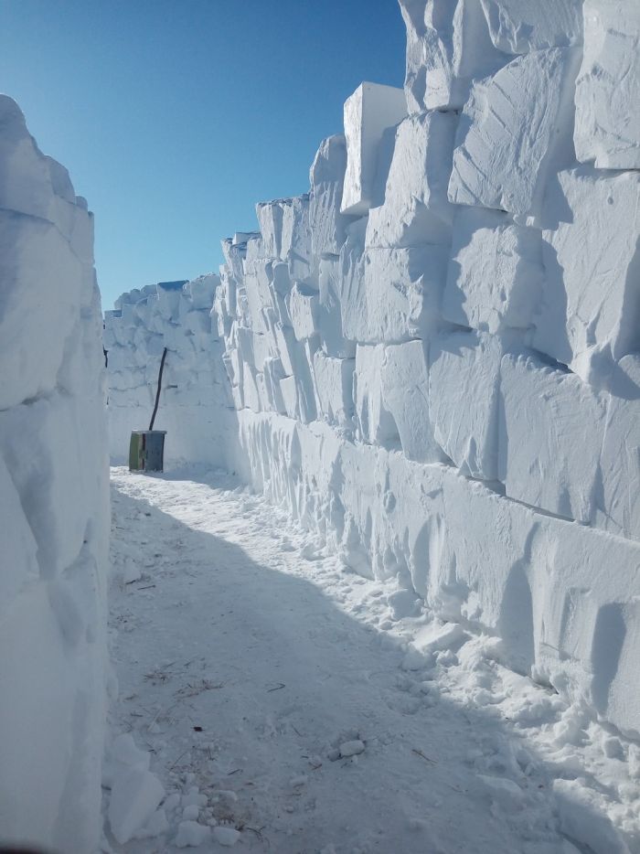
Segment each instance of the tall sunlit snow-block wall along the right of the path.
M253 484L640 732L639 8L400 0L308 195L223 244Z

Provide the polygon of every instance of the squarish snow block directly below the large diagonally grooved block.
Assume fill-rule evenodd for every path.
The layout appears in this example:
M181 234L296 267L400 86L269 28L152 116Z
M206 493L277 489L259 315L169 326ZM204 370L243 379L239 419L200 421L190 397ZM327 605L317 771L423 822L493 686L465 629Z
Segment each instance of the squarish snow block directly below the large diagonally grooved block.
M443 317L496 334L527 329L539 307L543 278L539 230L506 213L459 208L443 293Z

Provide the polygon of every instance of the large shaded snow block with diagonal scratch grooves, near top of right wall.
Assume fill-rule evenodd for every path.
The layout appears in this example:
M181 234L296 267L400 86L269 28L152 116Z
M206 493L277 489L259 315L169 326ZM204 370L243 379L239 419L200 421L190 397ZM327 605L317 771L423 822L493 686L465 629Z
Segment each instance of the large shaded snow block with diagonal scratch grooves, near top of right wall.
M456 135L449 198L536 219L548 176L573 159L578 55L552 48L476 82Z

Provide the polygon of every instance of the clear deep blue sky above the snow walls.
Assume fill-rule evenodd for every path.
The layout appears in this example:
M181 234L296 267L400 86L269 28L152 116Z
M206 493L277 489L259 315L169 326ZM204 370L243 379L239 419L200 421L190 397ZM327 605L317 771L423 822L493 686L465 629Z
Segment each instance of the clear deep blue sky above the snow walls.
M404 48L396 0L0 0L0 91L89 200L106 308L217 271Z

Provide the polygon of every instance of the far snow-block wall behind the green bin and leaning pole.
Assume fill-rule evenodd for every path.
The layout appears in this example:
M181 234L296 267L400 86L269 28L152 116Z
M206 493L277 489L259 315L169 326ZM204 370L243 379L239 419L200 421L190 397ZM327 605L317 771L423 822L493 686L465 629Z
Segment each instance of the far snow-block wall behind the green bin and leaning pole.
M164 282L123 294L105 312L112 460L128 455L132 430L146 430L154 411L166 347L155 430L167 432L165 461L227 464L238 432L222 363L218 327L211 327L216 275Z

